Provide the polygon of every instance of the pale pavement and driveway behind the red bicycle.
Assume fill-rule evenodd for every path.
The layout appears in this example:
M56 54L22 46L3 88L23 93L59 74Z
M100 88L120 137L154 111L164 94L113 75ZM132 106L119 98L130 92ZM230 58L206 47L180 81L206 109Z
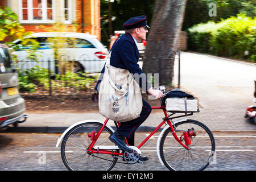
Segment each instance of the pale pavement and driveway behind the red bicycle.
M256 131L255 123L244 118L246 107L255 105L256 64L192 52L181 52L180 60L181 89L196 96L200 105L200 113L187 119L203 122L212 131ZM175 60L174 85L177 85L177 66ZM27 115L26 122L6 132L63 133L67 127L82 120L105 121L97 112ZM137 131L153 130L163 117L162 112L152 110ZM108 124L114 127L114 122Z

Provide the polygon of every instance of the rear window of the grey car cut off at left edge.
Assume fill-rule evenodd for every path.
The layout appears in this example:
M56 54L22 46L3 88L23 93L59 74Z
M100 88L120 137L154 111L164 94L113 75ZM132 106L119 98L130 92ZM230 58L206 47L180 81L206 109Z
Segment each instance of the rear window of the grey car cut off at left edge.
M0 48L0 73L11 73L13 69L13 59L7 48Z

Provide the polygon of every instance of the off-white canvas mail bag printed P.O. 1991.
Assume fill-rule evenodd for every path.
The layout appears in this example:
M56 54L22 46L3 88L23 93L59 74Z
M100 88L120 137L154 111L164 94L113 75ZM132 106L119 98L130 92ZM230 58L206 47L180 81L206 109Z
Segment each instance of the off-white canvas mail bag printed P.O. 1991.
M100 84L100 114L119 122L138 118L142 111L141 89L127 69L110 65L110 56L111 51Z

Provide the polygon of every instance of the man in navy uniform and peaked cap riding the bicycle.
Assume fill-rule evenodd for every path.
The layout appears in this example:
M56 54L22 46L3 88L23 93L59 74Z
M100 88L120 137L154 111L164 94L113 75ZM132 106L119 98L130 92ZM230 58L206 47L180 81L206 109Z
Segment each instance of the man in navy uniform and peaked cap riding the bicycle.
M163 97L163 93L160 90L152 89L152 86L148 83L146 76L143 74L142 69L139 67L139 51L137 43L140 40L146 39L146 34L148 32L147 28L150 28L146 23L146 16L136 16L130 18L125 23L123 27L125 28L125 34L117 39L112 47L112 53L110 57L110 65L116 68L127 69L130 73L137 73L141 76L138 82L139 86L143 91L151 94L156 99ZM99 84L104 74L104 68L101 71L101 76L97 82L96 90L98 90ZM142 82L142 80L146 80ZM134 133L135 130L147 119L148 115L151 113L151 106L142 99L143 106L139 118L133 119L128 122L121 122L118 129L109 137L109 139L115 143L121 150L127 152L133 152L133 150L126 146L124 137L126 137L127 142L130 146L134 146ZM141 162L148 160L147 156L141 156L139 158Z

